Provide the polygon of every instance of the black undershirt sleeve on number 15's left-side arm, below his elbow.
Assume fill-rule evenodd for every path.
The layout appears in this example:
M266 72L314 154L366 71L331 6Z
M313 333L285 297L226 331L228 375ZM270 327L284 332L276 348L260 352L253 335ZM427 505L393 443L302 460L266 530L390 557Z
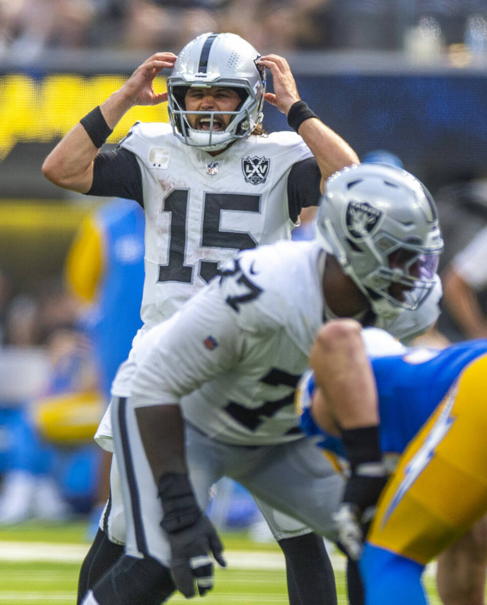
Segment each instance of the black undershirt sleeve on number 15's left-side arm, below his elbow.
M141 167L127 149L102 151L94 159L93 184L87 195L123 197L144 208Z

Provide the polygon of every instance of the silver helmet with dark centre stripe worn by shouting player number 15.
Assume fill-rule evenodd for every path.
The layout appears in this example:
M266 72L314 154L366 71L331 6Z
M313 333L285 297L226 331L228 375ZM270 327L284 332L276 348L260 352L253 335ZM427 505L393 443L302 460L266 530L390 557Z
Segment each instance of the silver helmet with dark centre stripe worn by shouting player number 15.
M186 145L205 151L223 149L235 139L248 137L262 122L265 94L265 68L257 65L260 54L236 34L201 34L177 56L167 79L168 113L174 135ZM188 87L228 87L236 90L242 102L236 111L185 110ZM210 130L196 130L188 113L210 116ZM224 131L213 131L213 120L221 114L232 116Z

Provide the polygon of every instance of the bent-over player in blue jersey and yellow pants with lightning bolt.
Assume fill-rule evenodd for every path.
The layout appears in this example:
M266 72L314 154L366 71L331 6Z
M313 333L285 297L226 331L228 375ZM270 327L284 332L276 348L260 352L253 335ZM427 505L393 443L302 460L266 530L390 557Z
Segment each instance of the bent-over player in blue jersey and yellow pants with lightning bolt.
M345 319L323 325L310 362L302 428L346 460L335 519L365 604L424 605L426 563L487 511L487 340L405 349Z

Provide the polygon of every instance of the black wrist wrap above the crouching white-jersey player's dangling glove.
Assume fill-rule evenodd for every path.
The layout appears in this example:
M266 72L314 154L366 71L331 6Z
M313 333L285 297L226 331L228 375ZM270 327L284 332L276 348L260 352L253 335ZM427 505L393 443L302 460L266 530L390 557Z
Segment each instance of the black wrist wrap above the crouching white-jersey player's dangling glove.
M161 526L168 533L193 525L202 515L187 474L163 475L157 484L157 494L164 511Z

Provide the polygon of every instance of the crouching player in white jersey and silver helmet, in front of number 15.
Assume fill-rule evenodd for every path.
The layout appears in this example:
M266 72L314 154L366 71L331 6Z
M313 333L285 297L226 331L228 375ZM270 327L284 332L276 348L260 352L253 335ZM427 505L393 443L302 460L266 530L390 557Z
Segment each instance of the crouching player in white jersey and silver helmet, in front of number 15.
M240 253L119 370L112 420L127 546L84 605L157 605L170 572L186 597L195 581L200 595L211 589L211 552L224 560L202 511L221 476L336 538L342 480L300 434L294 389L323 320L420 317L443 242L421 183L381 165L331 177L317 229L316 242Z

